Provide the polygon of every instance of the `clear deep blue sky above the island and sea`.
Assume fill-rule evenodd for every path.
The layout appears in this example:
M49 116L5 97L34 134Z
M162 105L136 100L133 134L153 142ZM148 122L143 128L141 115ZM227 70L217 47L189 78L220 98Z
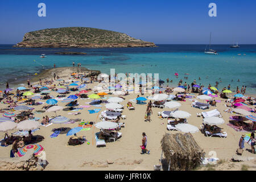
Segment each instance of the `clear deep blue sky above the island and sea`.
M38 4L46 3L46 17ZM217 5L209 17L208 5ZM0 44L22 41L26 32L94 27L124 32L156 44L256 43L255 0L1 0Z

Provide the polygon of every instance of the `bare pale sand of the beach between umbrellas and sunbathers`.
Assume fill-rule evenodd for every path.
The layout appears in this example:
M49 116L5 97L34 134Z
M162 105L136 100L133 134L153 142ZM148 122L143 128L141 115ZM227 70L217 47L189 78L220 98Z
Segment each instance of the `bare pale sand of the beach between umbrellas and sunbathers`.
M81 81L81 79L73 79L71 78L71 74L75 72L74 69L76 68L59 68L61 69L56 75L59 76L61 79L69 82L71 81ZM53 69L51 69L52 72ZM88 69L83 69L82 72L88 71ZM42 79L50 80L53 78L52 76L48 77L46 75L49 74L50 71L45 71L42 75L33 78L31 82L34 84L39 84L38 79L42 77ZM42 80L43 81L43 80ZM55 81L55 84L57 81ZM81 82L79 82L81 84ZM206 85L207 83L205 83ZM94 86L97 86L98 82L93 82L92 84L87 84L87 89L92 89ZM174 85L173 85L174 86ZM176 87L175 85L174 87ZM58 86L56 86L58 88ZM71 92L71 94L75 94L78 92ZM89 94L94 93L89 92ZM172 94L175 94L172 93ZM56 98L58 93L51 91L51 96ZM121 119L120 122L125 122L125 127L122 127L119 132L122 133L122 137L115 142L106 142L106 147L96 147L96 141L94 134L99 132L100 129L97 127L92 127L89 131L80 131L77 135L85 136L86 140L90 142L89 144L84 143L80 146L67 146L67 142L69 137L66 136L67 131L72 129L73 127L77 127L79 122L62 125L62 127L67 127L67 131L63 131L60 133L58 137L51 138L50 135L53 133L53 129L57 129L60 125L52 124L48 127L41 126L40 130L36 131L34 135L42 135L44 140L39 142L38 144L44 147L44 151L46 152L46 159L47 159L47 166L44 170L153 170L154 165L159 163L160 156L162 154L162 149L160 147L160 140L162 139L165 133L179 133L180 131L168 131L167 130L167 119L159 118L158 112L164 110L171 110L171 109L160 109L152 107L152 115L151 115L151 122L145 121L144 114L146 112L147 105L137 105L133 103L135 110L129 110L126 107L126 103L130 100L137 98L138 93L129 94L128 96L122 96L125 98L122 105L124 105L124 109L122 115L126 115L126 119ZM141 94L139 94L141 96ZM106 95L105 97L115 97L114 95ZM146 93L142 97L151 96L151 93ZM198 94L194 93L191 96L198 96ZM231 94L230 94L231 96ZM67 96L68 97L68 96ZM117 96L116 96L117 97ZM228 137L220 138L220 137L205 137L200 131L197 133L193 133L192 136L195 138L197 144L205 151L205 157L212 156L211 151L216 152L216 158L220 160L225 160L224 163L220 164L222 167L216 167L216 169L225 169L225 170L240 170L243 164L250 166L249 170L255 170L254 162L255 160L251 160L250 162L240 162L234 165L231 165L229 162L232 159L232 156L236 154L236 150L238 148L238 142L242 134L250 133L242 133L237 132L232 127L226 125L229 123L229 117L232 115L226 113L224 110L227 109L225 106L225 100L220 98L219 96L214 98L215 100L220 100L221 102L217 102L216 107L210 107L210 109L201 110L196 109L191 106L192 101L189 99L185 99L185 101L178 101L181 104L179 110L187 111L191 114L189 117L188 123L194 125L200 129L200 125L203 123L202 117L197 117L197 113L201 113L202 111L210 111L213 109L218 109L220 111L222 118L224 119L225 123L221 125L222 131L226 131ZM15 99L16 100L16 99ZM40 100L37 100L40 101ZM81 100L80 98L77 100L79 105L86 105L85 102L92 101L89 100ZM147 100L146 102L148 102ZM32 106L35 110L42 110L43 106L46 106L46 100L41 101L44 104L39 106ZM64 106L67 103L63 103L59 101L57 105ZM19 104L24 105L24 104ZM0 108L6 108L8 105L1 103ZM57 115L64 115L70 119L80 118L81 121L92 121L92 122L100 122L101 119L99 115L101 111L105 110L105 105L101 104L102 107L95 107L91 106L89 108L84 108L80 110L81 114L78 115L68 115L68 111L57 111ZM99 113L89 114L89 109L101 109ZM19 111L14 111L16 114ZM40 118L38 122L42 121L42 117L48 115L49 118L55 117L55 113L42 113L42 114L34 114L35 117ZM16 130L9 131L9 134L14 133ZM147 135L147 148L150 150L150 154L141 154L141 140L142 140L142 133L146 133ZM0 138L4 137L3 132L0 133ZM251 147L249 144L245 143L245 149L250 149ZM10 150L11 145L7 147L1 147L0 150L0 157L1 158L9 158L10 157ZM210 153L209 153L210 152ZM255 158L255 154L251 154L251 152L245 150L243 152L243 156L250 156ZM163 156L164 157L164 156ZM113 164L108 164L106 160L113 162ZM226 165L226 166L225 166ZM230 166L231 165L231 166ZM229 166L229 167L227 167Z

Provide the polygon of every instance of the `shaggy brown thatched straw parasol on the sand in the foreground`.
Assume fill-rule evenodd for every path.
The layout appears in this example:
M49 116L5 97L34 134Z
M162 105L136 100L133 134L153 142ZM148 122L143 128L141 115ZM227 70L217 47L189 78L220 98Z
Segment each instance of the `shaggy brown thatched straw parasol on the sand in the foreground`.
M190 133L165 134L161 146L170 170L174 171L196 168L205 154Z

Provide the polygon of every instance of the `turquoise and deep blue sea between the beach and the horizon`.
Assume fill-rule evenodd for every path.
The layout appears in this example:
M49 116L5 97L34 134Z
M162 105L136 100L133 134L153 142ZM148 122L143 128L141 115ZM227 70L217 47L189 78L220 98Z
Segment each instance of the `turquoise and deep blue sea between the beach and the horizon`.
M43 69L69 67L72 62L82 67L110 73L159 73L159 77L173 80L176 86L180 78L188 84L196 79L198 84L215 85L218 88L231 85L232 90L246 86L247 94L256 94L256 45L213 45L219 55L205 55L205 45L157 45L154 48L13 48L13 45L0 45L0 88L8 81L26 80ZM76 51L87 55L55 55L55 52ZM46 58L40 58L42 53ZM238 55L241 54L241 55ZM35 60L35 61L33 61ZM174 73L179 73L179 78ZM184 74L188 73L188 79ZM199 80L201 77L201 80ZM240 82L237 80L240 79ZM221 80L221 82L220 82ZM16 82L15 82L16 83Z

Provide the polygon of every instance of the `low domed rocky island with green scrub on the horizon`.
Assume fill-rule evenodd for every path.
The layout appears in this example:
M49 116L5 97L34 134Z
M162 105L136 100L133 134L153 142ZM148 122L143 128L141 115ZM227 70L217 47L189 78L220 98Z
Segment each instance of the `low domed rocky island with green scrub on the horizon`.
M135 39L120 32L87 27L47 28L28 32L14 47L155 47L154 43Z

